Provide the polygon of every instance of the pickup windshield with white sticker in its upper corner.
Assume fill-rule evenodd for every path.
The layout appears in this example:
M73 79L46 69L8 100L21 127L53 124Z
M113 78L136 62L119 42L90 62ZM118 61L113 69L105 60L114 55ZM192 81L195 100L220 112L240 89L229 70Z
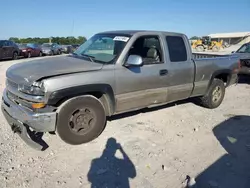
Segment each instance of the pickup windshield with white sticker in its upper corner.
M74 54L90 58L91 61L113 63L128 42L128 36L98 34L82 44Z

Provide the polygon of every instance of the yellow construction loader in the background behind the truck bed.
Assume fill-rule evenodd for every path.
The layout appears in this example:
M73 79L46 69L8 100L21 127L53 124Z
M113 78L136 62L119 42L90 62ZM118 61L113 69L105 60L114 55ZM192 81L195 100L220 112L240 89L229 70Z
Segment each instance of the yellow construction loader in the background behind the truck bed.
M201 39L196 40L192 44L192 48L196 49L196 51L198 52L202 52L205 50L212 50L213 52L218 52L223 47L223 40L220 40L220 42L211 41L211 37L209 36L204 36Z

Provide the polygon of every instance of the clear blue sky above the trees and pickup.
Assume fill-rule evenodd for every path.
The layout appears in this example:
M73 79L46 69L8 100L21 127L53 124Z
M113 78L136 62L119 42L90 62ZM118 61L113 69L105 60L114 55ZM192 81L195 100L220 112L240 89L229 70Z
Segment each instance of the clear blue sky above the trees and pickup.
M250 0L2 0L0 39L161 30L191 36L250 31Z

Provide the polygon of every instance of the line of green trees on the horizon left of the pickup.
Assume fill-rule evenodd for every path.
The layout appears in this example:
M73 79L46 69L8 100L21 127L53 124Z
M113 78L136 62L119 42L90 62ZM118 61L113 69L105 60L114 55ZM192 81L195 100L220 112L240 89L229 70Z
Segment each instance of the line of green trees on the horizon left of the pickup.
M35 38L17 38L17 37L10 37L9 40L15 42L15 43L37 43L37 44L43 44L43 43L57 43L61 45L66 45L66 44L82 44L84 43L87 39L86 37L79 36L79 37L50 37L50 38L40 38L40 37L35 37Z

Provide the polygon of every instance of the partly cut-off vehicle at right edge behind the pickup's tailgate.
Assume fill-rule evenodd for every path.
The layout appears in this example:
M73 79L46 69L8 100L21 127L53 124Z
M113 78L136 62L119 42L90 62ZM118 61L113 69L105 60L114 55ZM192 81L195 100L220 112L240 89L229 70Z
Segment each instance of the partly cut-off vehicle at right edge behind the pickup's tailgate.
M241 60L239 74L250 75L250 42L243 44L237 51L232 53L237 54Z

